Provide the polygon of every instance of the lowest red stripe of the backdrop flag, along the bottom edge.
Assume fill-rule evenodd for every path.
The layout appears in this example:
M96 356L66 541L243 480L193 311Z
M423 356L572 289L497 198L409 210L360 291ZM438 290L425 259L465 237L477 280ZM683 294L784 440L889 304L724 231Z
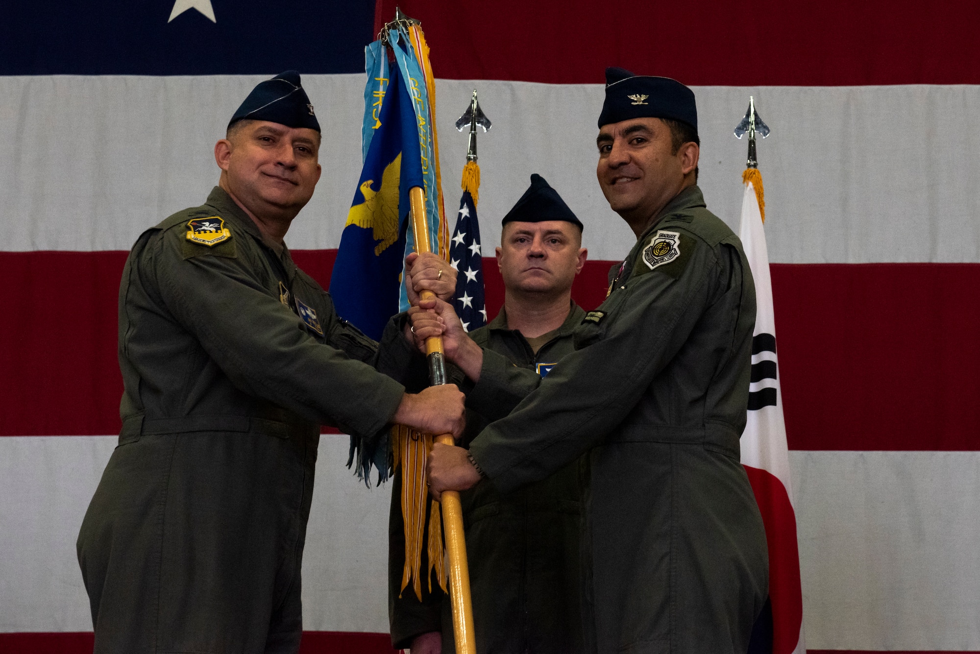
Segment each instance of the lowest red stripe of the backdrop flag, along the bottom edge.
M95 634L81 632L0 633L0 654L91 654ZM393 654L387 633L304 631L300 654Z

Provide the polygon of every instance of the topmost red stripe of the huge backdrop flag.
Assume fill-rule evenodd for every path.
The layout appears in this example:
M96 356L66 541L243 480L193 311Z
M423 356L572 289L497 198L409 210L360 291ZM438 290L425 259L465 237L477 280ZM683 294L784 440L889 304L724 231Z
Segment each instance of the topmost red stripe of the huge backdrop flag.
M378 0L422 22L449 79L602 83L607 66L695 85L976 84L980 3ZM955 63L955 65L954 65ZM599 108L595 108L596 117Z

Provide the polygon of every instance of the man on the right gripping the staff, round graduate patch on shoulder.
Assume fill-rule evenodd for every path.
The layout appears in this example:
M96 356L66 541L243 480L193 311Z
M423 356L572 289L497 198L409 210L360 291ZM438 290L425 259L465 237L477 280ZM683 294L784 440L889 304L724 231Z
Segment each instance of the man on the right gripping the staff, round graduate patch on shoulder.
M452 320L416 326L445 330L447 356L475 382L467 407L514 407L468 450L433 447L435 496L484 476L513 491L588 452L590 652L742 654L765 601L765 534L739 463L755 289L696 185L697 120L679 82L607 70L597 176L637 242L547 378L473 348Z

